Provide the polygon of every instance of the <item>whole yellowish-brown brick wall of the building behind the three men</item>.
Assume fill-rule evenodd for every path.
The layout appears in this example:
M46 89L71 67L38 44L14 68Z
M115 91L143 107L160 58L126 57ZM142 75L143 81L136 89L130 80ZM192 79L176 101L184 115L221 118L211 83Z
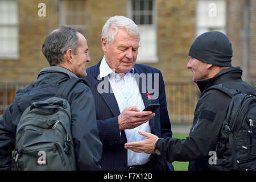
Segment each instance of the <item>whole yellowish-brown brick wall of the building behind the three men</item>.
M36 80L40 69L48 62L41 52L47 34L59 26L59 0L19 0L19 54L18 60L0 60L0 82ZM46 17L38 16L38 3L46 3ZM188 50L195 39L196 0L156 0L157 47L159 62L149 64L162 71L165 81L191 81L191 71L186 68ZM256 1L250 5L250 62L249 77L256 78ZM88 40L89 66L98 63L103 56L101 28L113 15L126 15L126 0L86 0L88 28L84 35ZM226 32L233 44L233 65L242 67L243 1L227 0Z

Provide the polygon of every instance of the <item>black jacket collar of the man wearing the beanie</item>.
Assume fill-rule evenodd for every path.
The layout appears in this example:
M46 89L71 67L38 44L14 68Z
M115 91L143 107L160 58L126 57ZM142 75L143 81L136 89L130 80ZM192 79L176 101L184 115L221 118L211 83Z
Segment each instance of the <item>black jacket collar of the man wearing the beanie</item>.
M242 69L240 67L230 67L223 69L218 72L214 77L207 80L196 81L200 92L203 93L205 89L212 85L222 84L224 80L241 80L242 79Z

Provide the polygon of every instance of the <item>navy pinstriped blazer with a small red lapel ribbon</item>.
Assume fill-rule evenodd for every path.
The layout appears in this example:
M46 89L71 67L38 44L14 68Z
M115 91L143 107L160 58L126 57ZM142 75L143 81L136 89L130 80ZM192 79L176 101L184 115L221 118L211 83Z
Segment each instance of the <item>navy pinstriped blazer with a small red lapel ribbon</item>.
M108 79L108 77L104 77L102 79L99 78L100 64L101 61L98 64L86 69L88 75L85 77L85 80L90 85L90 89L92 90L94 96L98 132L103 144L101 167L103 170L125 171L127 170L127 150L124 148L124 144L127 142L127 140L124 131L122 131L120 135L118 126L118 115L120 114L120 111L117 101L115 100L114 93L111 90L109 81L104 80ZM159 71L159 69L143 64L135 64L134 73L138 73L135 75L141 75L144 73L146 74L146 79L148 78L147 73L152 73L152 89L154 89L154 73L158 73L159 97L155 100L150 100L147 98L148 79L146 82L140 80L137 81L137 83L139 85L139 90L141 92L145 106L151 103L160 104L159 109L155 111L155 117L149 121L152 129L151 133L155 134L159 138L172 137L171 123L167 111L166 92L164 89L162 73ZM104 84L102 84L101 81L106 81L105 83L108 83L105 84L106 88L102 86ZM108 91L106 91L106 93L99 93L97 89L98 86L102 87L101 89ZM102 92L102 90L100 92ZM166 169L166 165L169 167L168 169L173 169L170 163L167 164L166 161L159 156L156 156L156 159L158 160L156 163L160 163L162 166L165 166L163 169Z

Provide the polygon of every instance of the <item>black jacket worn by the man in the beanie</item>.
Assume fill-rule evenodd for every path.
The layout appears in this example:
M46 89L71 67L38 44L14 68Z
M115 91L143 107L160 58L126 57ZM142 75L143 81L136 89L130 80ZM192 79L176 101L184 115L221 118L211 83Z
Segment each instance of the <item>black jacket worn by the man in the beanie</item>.
M254 86L242 81L242 70L230 67L208 80L197 81L200 91L223 84L242 93L256 94ZM156 143L161 156L170 162L189 161L189 170L208 170L209 151L214 151L230 97L218 90L209 90L197 102L193 125L186 139L163 138Z

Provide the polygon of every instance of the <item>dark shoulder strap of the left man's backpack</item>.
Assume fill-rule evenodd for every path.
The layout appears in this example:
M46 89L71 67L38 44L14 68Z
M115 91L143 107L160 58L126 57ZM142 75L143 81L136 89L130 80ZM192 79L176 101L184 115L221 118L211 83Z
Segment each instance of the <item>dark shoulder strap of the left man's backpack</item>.
M71 90L76 86L78 82L83 82L85 85L89 86L84 78L69 78L67 81L64 81L60 86L60 89L55 94L55 97L68 98Z

